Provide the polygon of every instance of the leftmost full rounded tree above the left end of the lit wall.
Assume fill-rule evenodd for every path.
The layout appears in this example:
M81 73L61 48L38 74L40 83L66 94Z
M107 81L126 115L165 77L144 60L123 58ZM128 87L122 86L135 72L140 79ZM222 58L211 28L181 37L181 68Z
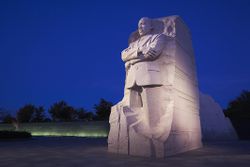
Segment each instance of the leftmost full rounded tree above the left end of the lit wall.
M17 120L19 122L31 122L33 114L36 112L36 107L32 104L27 104L21 107L17 112Z

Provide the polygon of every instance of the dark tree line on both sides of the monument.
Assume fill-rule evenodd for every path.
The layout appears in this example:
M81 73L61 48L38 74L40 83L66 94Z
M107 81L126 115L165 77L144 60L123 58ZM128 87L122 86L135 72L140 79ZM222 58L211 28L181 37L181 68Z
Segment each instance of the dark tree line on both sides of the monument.
M17 111L15 118L0 108L0 120L12 123L17 128L18 123L22 122L101 121L109 119L111 106L111 102L100 99L93 107L94 112L89 112L84 108L74 108L65 101L59 101L48 109L51 118L47 118L43 106L27 104ZM240 139L250 139L250 91L242 91L236 99L229 102L224 114L231 120Z

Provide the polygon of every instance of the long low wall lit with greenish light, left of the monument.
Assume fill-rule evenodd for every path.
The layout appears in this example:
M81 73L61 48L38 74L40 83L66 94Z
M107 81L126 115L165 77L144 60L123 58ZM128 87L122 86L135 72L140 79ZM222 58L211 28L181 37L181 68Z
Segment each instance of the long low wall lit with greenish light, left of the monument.
M0 125L0 130L14 130L11 124ZM20 131L27 131L32 136L72 136L72 137L107 137L108 122L49 122L23 123Z

